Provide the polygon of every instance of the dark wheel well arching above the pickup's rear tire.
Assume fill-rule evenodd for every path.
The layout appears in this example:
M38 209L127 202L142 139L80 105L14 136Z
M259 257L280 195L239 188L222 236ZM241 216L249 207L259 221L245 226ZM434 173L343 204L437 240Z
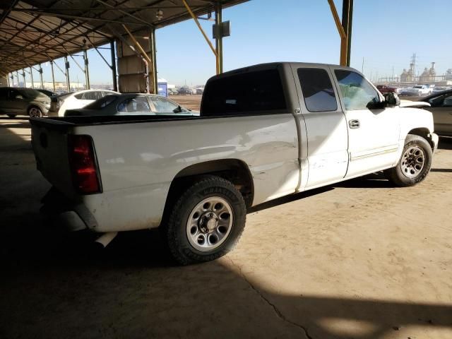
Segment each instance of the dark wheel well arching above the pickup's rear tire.
M213 160L191 165L177 173L169 186L163 213L164 220L171 210L170 207L175 203L182 192L185 191L196 178L206 175L216 175L232 182L242 194L246 208L251 207L254 198L254 184L248 166L237 159Z

